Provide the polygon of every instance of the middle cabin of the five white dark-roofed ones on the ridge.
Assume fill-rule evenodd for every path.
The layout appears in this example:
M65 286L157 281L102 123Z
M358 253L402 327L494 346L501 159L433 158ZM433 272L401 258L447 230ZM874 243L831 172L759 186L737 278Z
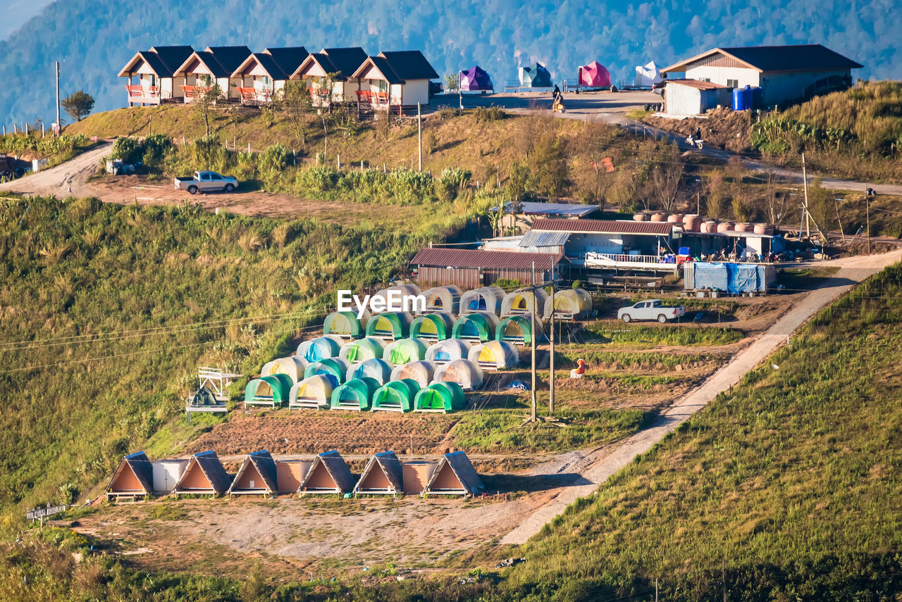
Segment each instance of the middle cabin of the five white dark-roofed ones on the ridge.
M309 55L303 46L254 52L232 74L232 78L241 80L238 87L241 102L244 105L271 103Z

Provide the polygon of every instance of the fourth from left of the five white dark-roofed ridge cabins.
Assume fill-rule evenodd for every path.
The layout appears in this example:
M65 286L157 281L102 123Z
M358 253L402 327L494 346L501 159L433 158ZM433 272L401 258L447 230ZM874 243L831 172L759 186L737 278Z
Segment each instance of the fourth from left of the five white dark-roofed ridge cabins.
M335 73L332 82L332 100L340 103L354 101L360 89L359 82L351 79L354 71L366 60L366 51L358 46L349 48L324 48L310 54L291 74L291 79L304 79L314 98L314 104L325 105L328 91L324 82L327 74Z

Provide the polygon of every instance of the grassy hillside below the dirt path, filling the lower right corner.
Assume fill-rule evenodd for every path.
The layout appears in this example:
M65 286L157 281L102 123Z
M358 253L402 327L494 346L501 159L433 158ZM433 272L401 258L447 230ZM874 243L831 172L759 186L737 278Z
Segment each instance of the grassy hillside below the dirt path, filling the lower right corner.
M732 600L897 599L900 321L895 266L549 524L509 584L650 599L658 579L662 599L692 600L725 579Z

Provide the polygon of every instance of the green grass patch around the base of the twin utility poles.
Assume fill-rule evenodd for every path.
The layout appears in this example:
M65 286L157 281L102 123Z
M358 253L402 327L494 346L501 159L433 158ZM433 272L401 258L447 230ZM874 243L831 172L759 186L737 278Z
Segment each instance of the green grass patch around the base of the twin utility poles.
M456 446L473 452L549 452L575 450L618 441L639 431L650 415L640 410L560 409L566 426L540 422L522 425L528 411L493 409L466 412L451 431Z

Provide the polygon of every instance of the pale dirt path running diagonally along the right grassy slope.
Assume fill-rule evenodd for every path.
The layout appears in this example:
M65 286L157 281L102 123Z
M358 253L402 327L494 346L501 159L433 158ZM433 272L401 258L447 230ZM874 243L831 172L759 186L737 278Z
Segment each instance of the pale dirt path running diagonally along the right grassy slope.
M627 466L634 457L648 452L655 443L664 438L664 435L688 420L719 393L737 384L761 360L786 343L787 337L794 333L799 326L805 324L818 310L829 305L864 278L876 274L880 269L899 260L902 260L902 251L833 261L833 265L840 266L840 269L832 278L808 293L748 348L738 353L723 368L717 370L703 385L678 399L658 418L656 424L611 448L594 450L587 454L579 452L565 454L555 462L538 467L536 471L549 469L557 472L578 471L582 479L580 479L580 484L562 489L548 504L541 506L532 515L529 515L516 529L505 535L501 543L525 543L529 537L538 534L544 524L562 513L566 506L572 504L577 497L590 495L604 480Z

